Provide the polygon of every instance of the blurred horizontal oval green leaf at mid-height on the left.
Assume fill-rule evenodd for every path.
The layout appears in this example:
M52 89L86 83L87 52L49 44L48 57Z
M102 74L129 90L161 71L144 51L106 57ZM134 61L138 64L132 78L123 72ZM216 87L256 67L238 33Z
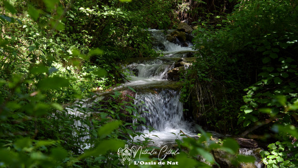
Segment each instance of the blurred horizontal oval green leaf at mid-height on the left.
M60 87L69 86L69 80L62 77L49 77L42 79L37 84L39 89L47 90L47 89L58 89Z

